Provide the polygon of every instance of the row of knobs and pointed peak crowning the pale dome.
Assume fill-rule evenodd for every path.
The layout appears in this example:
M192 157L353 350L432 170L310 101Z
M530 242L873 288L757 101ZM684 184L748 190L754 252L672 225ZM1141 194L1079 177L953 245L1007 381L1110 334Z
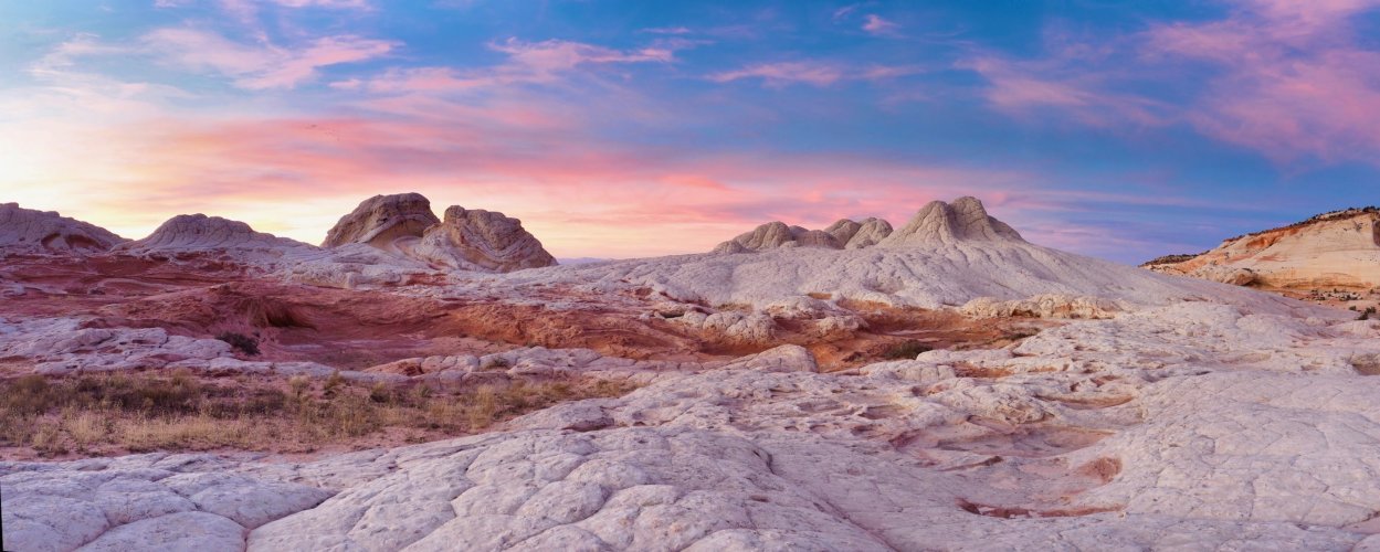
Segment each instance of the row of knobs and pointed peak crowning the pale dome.
M954 203L930 201L898 230L880 218L856 222L839 219L822 230L767 222L752 232L720 243L713 253L763 251L777 247L864 248L908 247L955 241L1021 241L1021 235L1005 222L987 214L976 197L959 197Z

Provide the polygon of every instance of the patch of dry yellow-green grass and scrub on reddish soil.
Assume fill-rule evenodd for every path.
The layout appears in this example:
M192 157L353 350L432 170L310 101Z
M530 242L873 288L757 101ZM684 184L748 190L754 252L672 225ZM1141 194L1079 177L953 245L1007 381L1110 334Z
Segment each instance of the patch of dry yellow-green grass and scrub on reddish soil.
M197 379L178 374L25 375L0 381L0 446L43 457L155 450L312 451L360 444L393 428L414 440L480 432L575 399L617 396L627 382L556 379L506 385ZM284 391L286 388L286 391Z

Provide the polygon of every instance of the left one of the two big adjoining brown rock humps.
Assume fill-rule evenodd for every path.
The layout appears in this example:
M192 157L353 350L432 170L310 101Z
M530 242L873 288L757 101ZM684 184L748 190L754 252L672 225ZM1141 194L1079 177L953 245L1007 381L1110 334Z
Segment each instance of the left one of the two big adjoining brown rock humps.
M421 193L396 193L374 196L326 233L322 247L339 247L349 243L393 250L395 241L407 237L421 237L432 225L440 222L431 210L431 201Z

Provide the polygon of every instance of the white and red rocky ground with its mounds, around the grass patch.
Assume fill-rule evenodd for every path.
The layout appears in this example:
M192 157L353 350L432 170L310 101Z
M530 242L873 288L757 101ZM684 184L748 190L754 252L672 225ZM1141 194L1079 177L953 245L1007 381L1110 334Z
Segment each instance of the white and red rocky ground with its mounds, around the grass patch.
M520 225L418 197L322 248L215 222L240 237L6 257L10 382L457 415L309 453L6 442L6 549L1380 549L1380 319L1043 248L976 200L526 268Z

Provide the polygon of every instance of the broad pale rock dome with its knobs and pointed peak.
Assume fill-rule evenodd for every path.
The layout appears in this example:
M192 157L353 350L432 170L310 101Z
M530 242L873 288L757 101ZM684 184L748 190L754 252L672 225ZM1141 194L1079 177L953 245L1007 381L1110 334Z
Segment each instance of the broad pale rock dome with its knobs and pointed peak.
M886 228L885 222L875 222L861 224L849 243L868 236L869 225L876 232ZM1042 294L1114 299L1134 306L1183 299L1272 312L1300 306L1249 290L1041 247L989 217L972 197L952 204L931 203L905 228L872 247L793 248L791 239L791 226L769 224L726 241L718 248L720 254L558 266L513 275L504 286L567 286L595 293L646 287L684 304L740 304L758 309L805 293L929 309L960 306L980 297L1002 302ZM722 254L726 251L755 253ZM476 291L497 288L484 282L473 286Z

